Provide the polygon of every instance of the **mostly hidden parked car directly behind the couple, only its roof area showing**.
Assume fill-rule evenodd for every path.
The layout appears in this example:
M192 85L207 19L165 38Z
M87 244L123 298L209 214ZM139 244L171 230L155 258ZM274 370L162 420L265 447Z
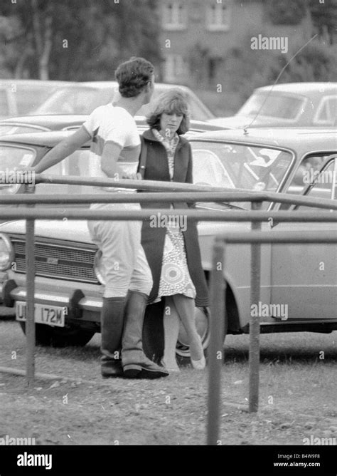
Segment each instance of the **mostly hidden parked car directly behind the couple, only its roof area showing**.
M88 115L27 115L17 118L0 120L0 136L7 134L22 134L47 132L48 130L76 130L87 120ZM139 132L149 128L146 118L135 116ZM201 120L191 120L188 133L202 133L206 130L223 130L220 125L210 124Z

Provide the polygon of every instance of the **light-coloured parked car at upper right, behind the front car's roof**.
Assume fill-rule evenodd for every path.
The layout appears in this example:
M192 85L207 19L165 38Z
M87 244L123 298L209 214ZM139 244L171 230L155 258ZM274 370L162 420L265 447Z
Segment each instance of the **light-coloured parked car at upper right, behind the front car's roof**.
M337 83L287 83L255 89L235 115L210 123L228 128L336 125Z

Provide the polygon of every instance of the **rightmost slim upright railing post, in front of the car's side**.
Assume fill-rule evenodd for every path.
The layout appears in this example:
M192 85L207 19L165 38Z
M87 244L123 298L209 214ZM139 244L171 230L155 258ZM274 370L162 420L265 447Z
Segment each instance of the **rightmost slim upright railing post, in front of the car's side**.
M262 202L252 202L252 211L260 210ZM261 231L261 222L252 222L252 232ZM261 284L261 244L250 246L250 304L258 306ZM252 308L250 308L252 309ZM259 366L260 366L260 317L250 311L250 358L249 358L249 411L257 412L259 406Z

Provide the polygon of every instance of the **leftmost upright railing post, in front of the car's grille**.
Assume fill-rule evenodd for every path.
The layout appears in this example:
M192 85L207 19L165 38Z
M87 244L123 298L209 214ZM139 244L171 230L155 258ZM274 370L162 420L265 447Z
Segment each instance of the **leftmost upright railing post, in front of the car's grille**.
M26 186L26 192L33 189ZM27 205L34 207L34 205ZM26 382L33 386L35 378L35 219L26 219Z

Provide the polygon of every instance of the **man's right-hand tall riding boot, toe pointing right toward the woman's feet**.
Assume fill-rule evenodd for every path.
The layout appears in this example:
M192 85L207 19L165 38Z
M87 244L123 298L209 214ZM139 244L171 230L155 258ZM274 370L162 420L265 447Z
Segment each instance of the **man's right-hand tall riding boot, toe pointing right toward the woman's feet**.
M122 338L122 366L124 376L129 378L166 377L166 368L150 361L143 351L141 334L148 296L139 291L129 291L124 313Z

